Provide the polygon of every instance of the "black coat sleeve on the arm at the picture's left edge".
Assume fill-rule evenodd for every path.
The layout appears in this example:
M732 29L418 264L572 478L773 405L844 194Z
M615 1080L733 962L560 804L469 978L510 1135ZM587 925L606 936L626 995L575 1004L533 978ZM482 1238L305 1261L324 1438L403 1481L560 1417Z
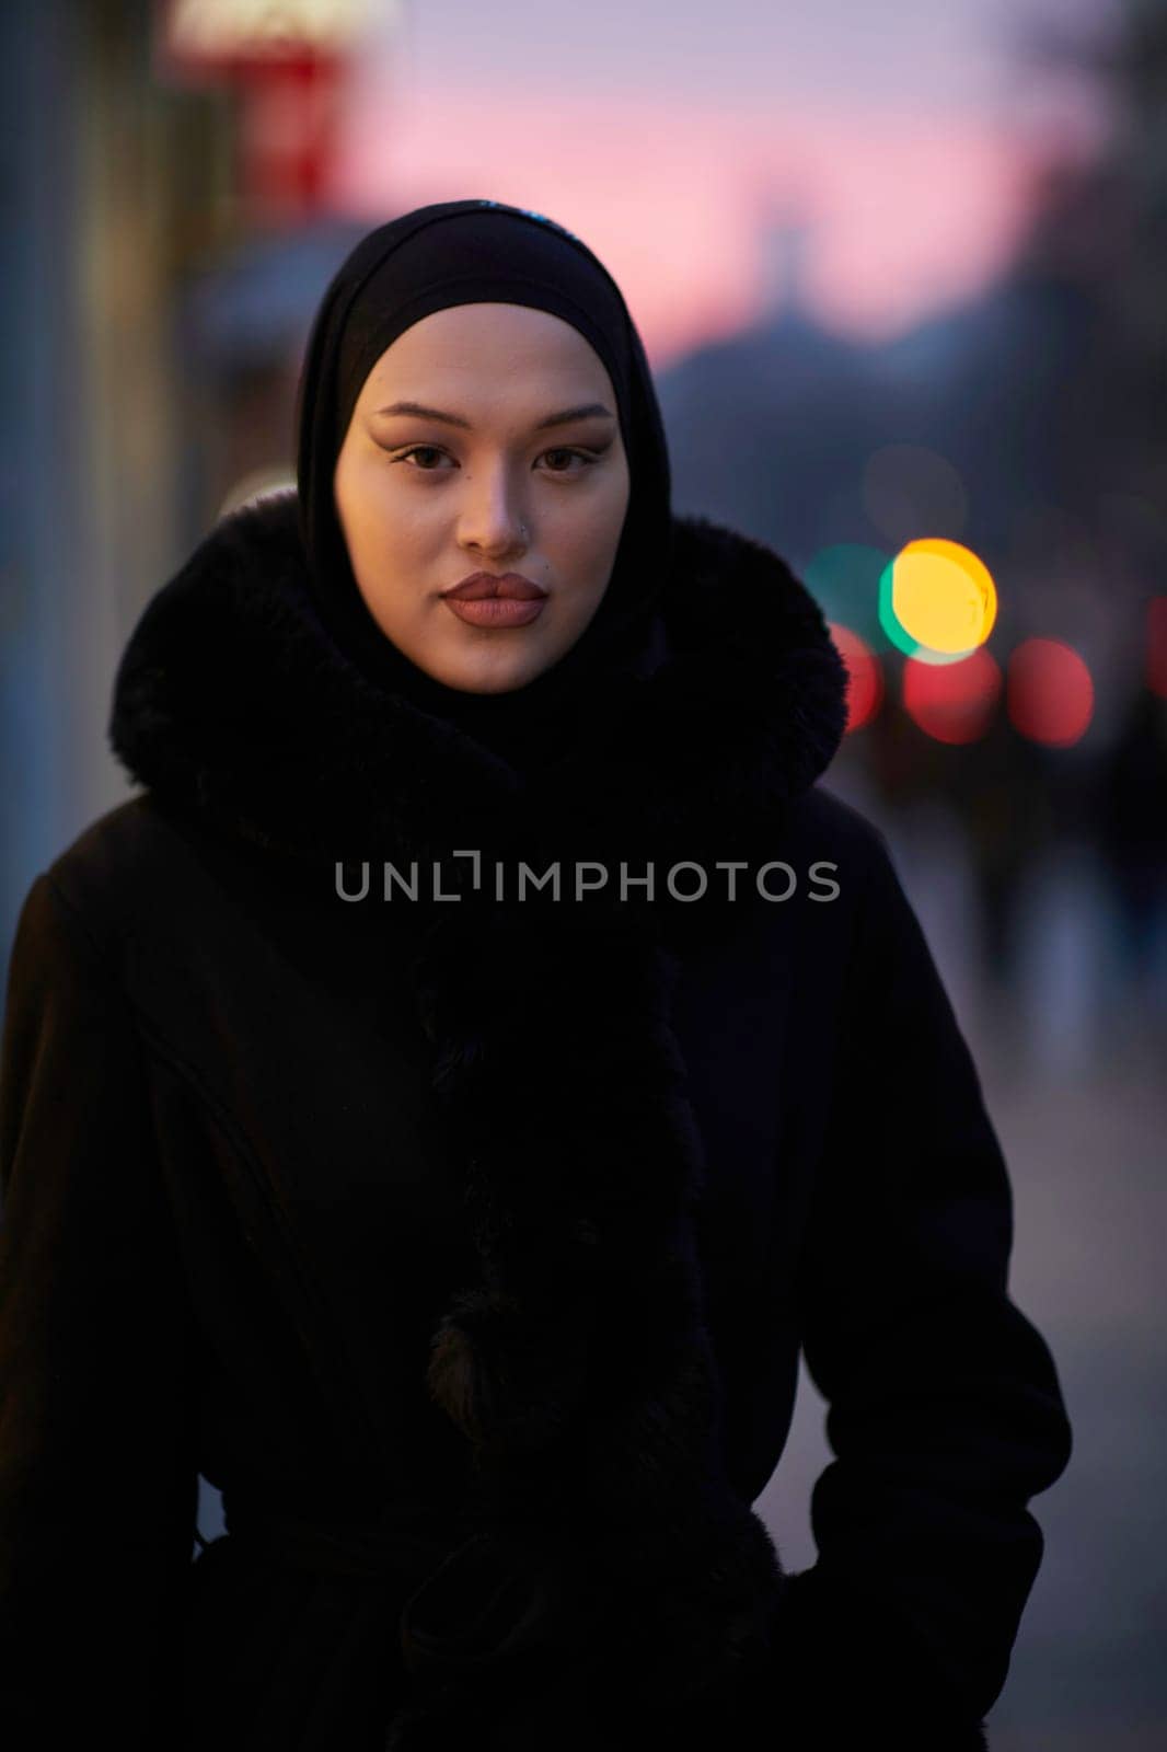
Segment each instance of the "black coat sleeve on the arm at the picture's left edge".
M0 1197L5 1745L173 1745L191 1319L133 1018L51 872L9 967Z

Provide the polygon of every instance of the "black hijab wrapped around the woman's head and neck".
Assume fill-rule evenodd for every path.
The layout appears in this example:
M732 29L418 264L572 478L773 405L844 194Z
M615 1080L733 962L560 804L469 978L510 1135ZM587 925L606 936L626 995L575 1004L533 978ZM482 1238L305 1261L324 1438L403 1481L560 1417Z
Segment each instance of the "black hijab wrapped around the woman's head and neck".
M336 457L377 359L431 312L480 301L529 305L578 329L612 378L631 473L629 508L596 615L555 664L503 694L447 687L393 643L352 575L333 499ZM599 703L613 697L601 678L652 666L654 611L673 555L664 426L624 298L571 231L492 200L438 201L378 226L324 294L300 378L296 426L314 606L331 641L375 685L524 769L568 752L585 720L594 727Z

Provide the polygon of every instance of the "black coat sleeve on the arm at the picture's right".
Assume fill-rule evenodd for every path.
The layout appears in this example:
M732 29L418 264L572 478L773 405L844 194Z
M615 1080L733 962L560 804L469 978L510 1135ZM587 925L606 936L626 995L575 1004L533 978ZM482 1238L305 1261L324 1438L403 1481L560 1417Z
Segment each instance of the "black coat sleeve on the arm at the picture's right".
M808 1747L964 1752L985 1745L1043 1556L1027 1503L1064 1472L1071 1424L1008 1293L1011 1186L978 1072L871 834L801 1274L834 1459L785 1647Z

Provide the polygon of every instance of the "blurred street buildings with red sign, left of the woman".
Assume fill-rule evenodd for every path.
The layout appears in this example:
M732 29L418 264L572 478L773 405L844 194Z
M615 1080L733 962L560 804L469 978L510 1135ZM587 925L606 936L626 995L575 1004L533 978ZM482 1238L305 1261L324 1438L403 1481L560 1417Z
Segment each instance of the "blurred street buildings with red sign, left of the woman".
M128 795L105 729L144 603L224 505L291 475L303 340L366 230L329 217L328 144L368 16L0 9L5 960L37 871Z

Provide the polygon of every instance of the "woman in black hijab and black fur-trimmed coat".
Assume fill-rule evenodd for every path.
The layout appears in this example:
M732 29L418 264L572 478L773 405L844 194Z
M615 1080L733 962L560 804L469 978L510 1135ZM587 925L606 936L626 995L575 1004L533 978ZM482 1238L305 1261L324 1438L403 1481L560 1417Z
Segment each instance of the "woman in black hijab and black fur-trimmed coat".
M983 1747L1071 1437L967 1048L817 783L818 608L673 517L624 300L540 214L364 238L298 433L147 606L144 788L19 920L5 1719ZM790 1575L750 1505L799 1347Z

